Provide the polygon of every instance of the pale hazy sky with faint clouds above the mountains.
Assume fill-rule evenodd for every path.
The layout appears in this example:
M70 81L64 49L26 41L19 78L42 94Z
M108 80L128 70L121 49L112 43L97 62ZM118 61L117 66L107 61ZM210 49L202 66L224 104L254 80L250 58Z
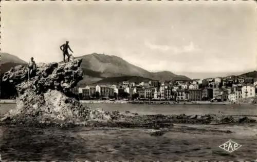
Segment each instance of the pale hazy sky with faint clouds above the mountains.
M176 74L255 70L253 1L3 1L1 52L28 61L116 55L149 71ZM195 76L198 77L198 76Z

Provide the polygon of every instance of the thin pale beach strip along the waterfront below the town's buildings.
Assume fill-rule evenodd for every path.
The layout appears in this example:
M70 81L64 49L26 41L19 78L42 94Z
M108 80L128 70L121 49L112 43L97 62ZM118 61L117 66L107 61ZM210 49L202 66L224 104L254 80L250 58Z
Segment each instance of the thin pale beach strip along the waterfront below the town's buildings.
M173 101L143 101L132 103L130 101L106 101L106 100L80 100L82 104L134 104L134 105L257 105L253 103L235 103L230 102L173 102ZM15 100L0 100L0 104L16 104Z

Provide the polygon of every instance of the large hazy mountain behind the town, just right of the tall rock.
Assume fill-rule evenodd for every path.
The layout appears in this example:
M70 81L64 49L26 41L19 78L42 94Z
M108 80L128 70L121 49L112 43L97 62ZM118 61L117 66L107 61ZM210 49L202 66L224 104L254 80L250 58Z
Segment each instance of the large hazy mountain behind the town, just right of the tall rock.
M127 61L117 56L94 53L90 55L80 56L77 58L83 59L81 67L84 70L90 70L91 72L98 73L97 75L99 75L99 78L114 77L115 80L115 78L118 79L117 77L122 78L125 76L133 76L163 81L172 79L190 80L190 78L186 76L175 75L167 71L151 73L141 67L128 63ZM87 75L87 73L85 74Z

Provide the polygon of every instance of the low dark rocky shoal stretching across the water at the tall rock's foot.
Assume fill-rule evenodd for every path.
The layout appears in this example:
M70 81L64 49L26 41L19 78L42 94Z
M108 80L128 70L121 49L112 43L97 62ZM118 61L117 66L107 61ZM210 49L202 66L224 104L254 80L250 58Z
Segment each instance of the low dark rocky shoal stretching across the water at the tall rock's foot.
M89 111L88 108L85 108ZM91 111L91 109L90 109ZM119 111L107 112L105 117L99 113L99 110L90 112L94 117L85 121L57 121L47 122L41 120L35 120L31 118L23 119L5 119L0 125L28 125L28 126L87 126L87 127L120 127L120 128L149 128L149 129L160 129L170 128L173 124L245 124L245 123L256 123L255 119L244 117L244 116L233 116L233 115L217 115L217 114L206 114L206 115L139 115L137 113L120 113ZM42 122L43 121L43 122Z

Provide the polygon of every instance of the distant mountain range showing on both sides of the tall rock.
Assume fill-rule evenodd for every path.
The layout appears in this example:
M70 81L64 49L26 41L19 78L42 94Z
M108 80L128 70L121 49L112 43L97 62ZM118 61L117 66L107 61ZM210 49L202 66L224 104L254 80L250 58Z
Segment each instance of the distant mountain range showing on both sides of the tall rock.
M84 71L84 78L78 86L85 86L93 83L119 82L131 80L135 82L149 80L190 80L186 76L180 76L168 71L151 73L141 67L135 66L117 56L104 54L90 54L77 58L82 58L81 67ZM8 53L1 53L2 74L9 71L16 65L27 65L27 62ZM138 77L138 78L137 78ZM102 80L102 81L101 81Z

